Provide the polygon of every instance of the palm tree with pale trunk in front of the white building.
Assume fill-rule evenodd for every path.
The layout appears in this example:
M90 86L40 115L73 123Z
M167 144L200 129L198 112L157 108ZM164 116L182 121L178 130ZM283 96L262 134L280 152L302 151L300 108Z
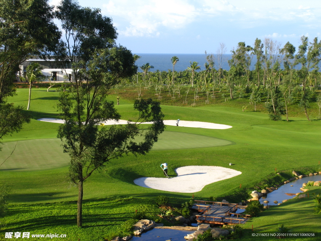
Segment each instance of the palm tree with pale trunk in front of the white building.
M22 80L29 82L29 99L28 99L27 110L29 110L29 107L30 107L32 82L41 82L43 80L48 79L47 76L44 76L42 74L41 70L43 70L43 68L40 67L40 64L37 62L33 62L32 64L28 65L26 68L26 77L25 78L22 77Z

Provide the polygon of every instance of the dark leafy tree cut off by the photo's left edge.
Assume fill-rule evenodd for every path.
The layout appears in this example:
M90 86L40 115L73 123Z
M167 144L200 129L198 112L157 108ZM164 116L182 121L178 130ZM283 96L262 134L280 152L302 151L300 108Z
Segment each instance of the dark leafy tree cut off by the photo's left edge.
M19 65L54 50L61 33L52 9L47 0L0 0L0 140L30 120L21 106L6 103L6 98L15 92Z

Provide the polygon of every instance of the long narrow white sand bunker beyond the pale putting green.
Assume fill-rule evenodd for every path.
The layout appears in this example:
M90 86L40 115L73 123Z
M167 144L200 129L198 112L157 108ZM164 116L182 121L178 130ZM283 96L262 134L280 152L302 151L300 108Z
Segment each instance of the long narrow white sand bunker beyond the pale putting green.
M54 119L54 118L41 118L37 121L47 121L47 122L54 122L54 123L65 123L61 119ZM127 124L128 121L125 120L119 120L118 122L115 120L109 120L105 121L105 125L124 125ZM151 124L152 122L143 122L144 124ZM169 126L176 126L175 120L165 120L165 125ZM223 125L223 124L215 124L210 122L201 122L201 121L179 121L178 126L181 127L194 127L194 128L205 128L205 129L229 129L232 128L232 126Z

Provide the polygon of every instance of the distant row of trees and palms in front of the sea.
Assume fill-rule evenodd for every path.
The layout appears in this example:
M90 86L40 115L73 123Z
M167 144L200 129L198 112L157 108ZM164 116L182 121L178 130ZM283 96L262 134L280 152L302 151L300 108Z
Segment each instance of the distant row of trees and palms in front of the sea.
M200 66L197 62L190 62L187 70L176 72L174 70L178 61L176 56L171 58L173 70L149 72L154 67L147 63L140 67L143 70L143 77L137 74L136 83L138 84L140 80L145 87L157 83L189 84L192 87L194 84L211 85L217 89L224 86L230 92L230 99L237 93L237 86L240 87L238 89L256 86L251 88L250 97L254 102L263 96L267 102L270 100L267 109L271 119L281 120L281 115L286 114L288 120L288 104L297 102L309 120L307 109L311 101L321 99L320 96L315 97L321 86L319 72L321 42L318 42L317 38L309 42L306 36L302 36L300 40L297 51L290 42L282 46L280 42L268 38L263 42L256 39L253 47L246 45L245 42L239 42L238 46L231 50L231 59L228 60L229 70L222 68L223 62L226 61L224 44L220 45L216 55L205 52L207 62L203 71L196 72Z

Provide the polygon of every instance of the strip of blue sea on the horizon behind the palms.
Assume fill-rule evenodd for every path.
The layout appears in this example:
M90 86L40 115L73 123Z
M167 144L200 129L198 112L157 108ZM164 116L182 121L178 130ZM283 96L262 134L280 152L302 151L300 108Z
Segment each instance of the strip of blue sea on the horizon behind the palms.
M138 72L143 72L139 67L149 63L150 65L154 66L153 69L150 69L151 72L155 72L156 70L159 71L168 71L173 70L173 64L171 62L171 58L173 56L177 56L179 61L175 64L175 71L183 71L186 70L191 64L189 61L198 62L198 65L201 67L201 70L204 70L204 64L207 62L205 54L139 54L141 56L136 61L136 65L138 66ZM231 54L226 54L224 56L224 61L222 64L223 69L229 70L228 60L231 59ZM214 66L216 69L217 67Z

